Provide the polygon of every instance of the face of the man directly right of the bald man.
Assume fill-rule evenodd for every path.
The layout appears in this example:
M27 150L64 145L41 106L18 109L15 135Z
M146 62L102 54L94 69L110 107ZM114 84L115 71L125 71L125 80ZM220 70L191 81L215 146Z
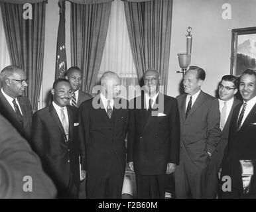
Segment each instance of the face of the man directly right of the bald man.
M155 70L148 70L145 72L144 84L146 92L150 97L154 96L159 91L159 73Z

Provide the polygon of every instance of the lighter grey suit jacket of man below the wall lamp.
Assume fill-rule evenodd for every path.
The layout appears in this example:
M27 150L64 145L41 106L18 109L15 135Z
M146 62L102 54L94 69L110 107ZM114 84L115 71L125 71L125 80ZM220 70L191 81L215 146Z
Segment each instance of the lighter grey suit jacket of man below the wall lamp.
M188 117L186 113L186 94L179 95L178 107L180 110L181 146L186 148L192 162L204 164L208 154L220 142L220 110L218 99L200 91ZM206 165L206 164L204 164Z

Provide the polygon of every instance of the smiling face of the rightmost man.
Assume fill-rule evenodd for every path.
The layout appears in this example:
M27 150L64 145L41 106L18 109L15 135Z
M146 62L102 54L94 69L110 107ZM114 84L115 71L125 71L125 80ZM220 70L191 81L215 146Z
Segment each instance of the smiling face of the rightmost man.
M244 101L253 99L256 95L256 78L255 75L243 74L240 78L239 91Z

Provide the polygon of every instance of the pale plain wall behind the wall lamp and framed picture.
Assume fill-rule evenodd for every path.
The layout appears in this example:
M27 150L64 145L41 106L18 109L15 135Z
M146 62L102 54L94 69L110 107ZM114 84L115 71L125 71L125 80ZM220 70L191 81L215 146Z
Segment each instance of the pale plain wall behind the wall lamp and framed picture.
M222 5L231 5L231 20L222 19ZM206 71L202 90L214 95L218 81L230 74L231 30L256 26L254 0L174 0L167 94L176 97L182 74L177 54L186 52L186 28L192 27L192 62Z

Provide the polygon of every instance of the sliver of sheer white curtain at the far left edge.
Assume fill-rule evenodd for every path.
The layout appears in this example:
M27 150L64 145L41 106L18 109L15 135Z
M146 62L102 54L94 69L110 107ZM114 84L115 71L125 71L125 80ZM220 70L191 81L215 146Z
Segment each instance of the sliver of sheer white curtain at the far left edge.
M2 13L0 10L0 72L5 68L5 66L11 65L10 56L7 48L7 41L5 38L5 30L3 29L3 21L2 21ZM1 79L0 79L0 88L1 85Z

